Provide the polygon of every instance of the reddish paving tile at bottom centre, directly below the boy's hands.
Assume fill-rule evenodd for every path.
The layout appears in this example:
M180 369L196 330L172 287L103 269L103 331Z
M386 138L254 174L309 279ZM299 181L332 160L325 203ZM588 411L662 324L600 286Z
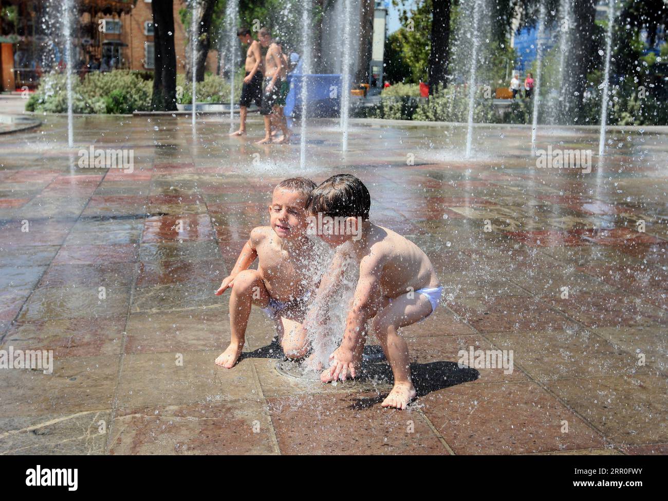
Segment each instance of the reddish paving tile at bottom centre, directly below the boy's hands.
M420 413L369 407L356 395L276 397L267 404L281 454L450 454Z

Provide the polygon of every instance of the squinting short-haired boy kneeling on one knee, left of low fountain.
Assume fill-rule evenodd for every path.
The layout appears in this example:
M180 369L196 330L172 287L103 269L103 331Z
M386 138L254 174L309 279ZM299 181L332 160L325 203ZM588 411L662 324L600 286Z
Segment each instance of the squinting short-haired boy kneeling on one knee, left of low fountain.
M307 235L305 212L309 194L315 188L310 179L285 179L274 189L269 205L269 226L259 226L239 254L236 264L216 296L230 290L230 346L216 364L231 369L244 346L251 304L264 308L275 320L279 341L288 358L301 359L309 342L301 328L309 296L317 280L309 264L315 262L315 243ZM255 259L257 270L248 270Z

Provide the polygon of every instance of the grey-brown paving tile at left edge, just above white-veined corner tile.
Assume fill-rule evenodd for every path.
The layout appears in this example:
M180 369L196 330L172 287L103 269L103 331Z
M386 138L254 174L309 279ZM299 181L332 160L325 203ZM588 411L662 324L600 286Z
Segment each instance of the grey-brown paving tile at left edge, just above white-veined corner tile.
M120 357L53 360L53 373L3 370L0 417L77 413L112 408Z

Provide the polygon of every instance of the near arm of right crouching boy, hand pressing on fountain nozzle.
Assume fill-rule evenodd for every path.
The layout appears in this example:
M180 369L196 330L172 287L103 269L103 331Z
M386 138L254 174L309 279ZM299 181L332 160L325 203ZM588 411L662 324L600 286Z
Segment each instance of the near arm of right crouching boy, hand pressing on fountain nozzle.
M355 377L355 365L359 363L355 359L355 353L359 350L359 342L362 332L369 318L372 318L377 310L380 298L380 277L383 266L379 258L365 256L359 264L359 281L355 288L353 307L348 313L345 322L345 332L341 346L329 357L329 376L332 381L341 378L345 380L349 373Z

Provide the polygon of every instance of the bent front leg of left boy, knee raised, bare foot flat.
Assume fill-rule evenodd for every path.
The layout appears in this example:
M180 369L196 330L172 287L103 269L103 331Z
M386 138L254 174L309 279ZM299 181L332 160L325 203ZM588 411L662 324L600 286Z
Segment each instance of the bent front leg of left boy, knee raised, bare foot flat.
M216 359L217 365L231 369L236 364L244 347L251 304L266 308L269 292L257 270L244 270L230 289L230 346Z

